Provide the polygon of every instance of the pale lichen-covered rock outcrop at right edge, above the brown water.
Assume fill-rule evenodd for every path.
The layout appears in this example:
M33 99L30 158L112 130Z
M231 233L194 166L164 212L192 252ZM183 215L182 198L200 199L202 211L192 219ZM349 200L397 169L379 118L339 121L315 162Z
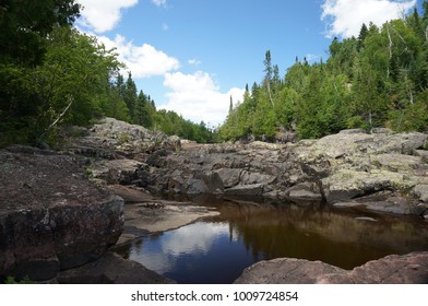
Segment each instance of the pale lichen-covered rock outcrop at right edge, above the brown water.
M428 209L428 164L426 151L419 149L427 141L428 136L418 132L347 130L299 142L295 152L301 169L320 186L329 203L424 215ZM374 201L370 198L373 195L378 196Z

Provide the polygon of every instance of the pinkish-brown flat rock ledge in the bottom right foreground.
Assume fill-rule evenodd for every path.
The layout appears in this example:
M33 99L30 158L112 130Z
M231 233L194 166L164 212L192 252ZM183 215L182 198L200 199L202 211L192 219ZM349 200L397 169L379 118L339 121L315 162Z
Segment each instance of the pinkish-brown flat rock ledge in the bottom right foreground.
M321 261L281 258L247 268L235 284L426 284L428 252L391 255L353 270Z

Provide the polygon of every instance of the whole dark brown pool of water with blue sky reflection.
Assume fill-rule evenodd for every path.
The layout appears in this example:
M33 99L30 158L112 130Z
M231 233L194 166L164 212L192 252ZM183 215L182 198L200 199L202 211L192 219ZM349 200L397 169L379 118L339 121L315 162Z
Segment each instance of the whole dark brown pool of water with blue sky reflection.
M428 250L428 223L418 217L321 203L257 203L202 199L219 216L146 235L121 249L178 283L231 283L257 261L292 257L344 268L391 254Z

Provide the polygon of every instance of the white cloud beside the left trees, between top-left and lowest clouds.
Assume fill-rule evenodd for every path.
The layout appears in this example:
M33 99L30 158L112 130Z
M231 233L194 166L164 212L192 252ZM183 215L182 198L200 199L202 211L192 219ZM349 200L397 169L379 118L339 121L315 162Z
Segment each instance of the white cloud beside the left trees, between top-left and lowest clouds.
M178 59L156 50L148 44L136 46L121 35L116 35L115 40L102 36L98 39L109 49L116 48L119 60L127 64L126 71L131 71L134 79L164 75L168 71L180 68Z

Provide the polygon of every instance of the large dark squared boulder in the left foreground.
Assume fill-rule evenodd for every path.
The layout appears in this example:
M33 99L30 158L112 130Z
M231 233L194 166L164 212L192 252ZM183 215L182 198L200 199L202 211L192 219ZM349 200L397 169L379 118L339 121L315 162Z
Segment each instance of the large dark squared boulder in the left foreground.
M50 279L100 257L121 234L123 200L90 184L73 157L3 150L0 181L0 278Z

